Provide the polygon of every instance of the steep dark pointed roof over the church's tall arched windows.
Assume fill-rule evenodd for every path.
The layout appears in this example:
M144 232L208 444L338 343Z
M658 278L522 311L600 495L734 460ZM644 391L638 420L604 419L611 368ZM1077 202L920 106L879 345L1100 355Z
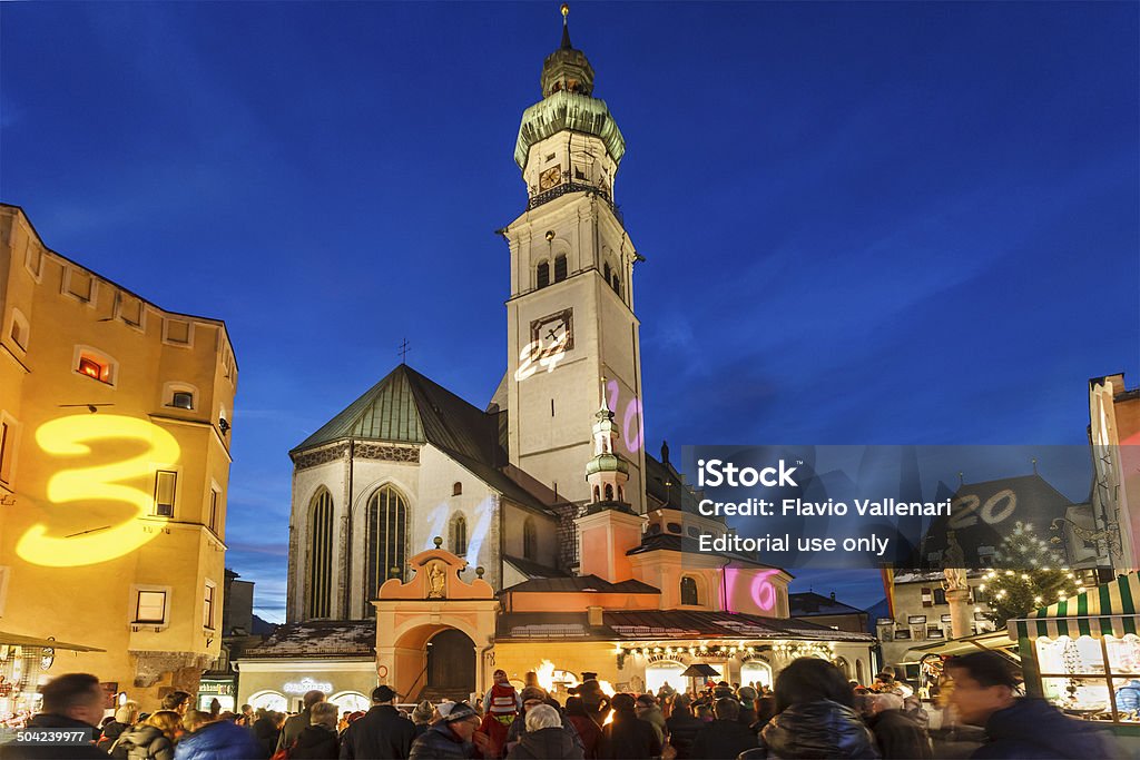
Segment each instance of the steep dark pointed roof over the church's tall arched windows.
M430 442L480 461L498 464L495 418L407 365L390 371L293 452L347 438Z

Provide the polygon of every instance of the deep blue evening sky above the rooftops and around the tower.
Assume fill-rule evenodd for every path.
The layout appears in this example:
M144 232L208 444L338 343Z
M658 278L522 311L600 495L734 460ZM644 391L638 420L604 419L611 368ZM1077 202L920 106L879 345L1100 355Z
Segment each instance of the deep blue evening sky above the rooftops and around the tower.
M650 450L1081 444L1088 378L1140 375L1138 13L575 3L628 144ZM523 209L512 150L557 3L0 14L0 198L56 251L229 326L227 563L279 620L288 449L405 337L477 406L503 374L492 230Z

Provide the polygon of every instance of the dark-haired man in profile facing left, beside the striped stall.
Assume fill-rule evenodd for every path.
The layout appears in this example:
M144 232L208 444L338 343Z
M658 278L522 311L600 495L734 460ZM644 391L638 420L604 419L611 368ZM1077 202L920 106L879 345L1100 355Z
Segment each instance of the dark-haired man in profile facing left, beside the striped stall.
M950 704L962 722L985 728L987 742L970 757L1062 760L1117 757L1115 743L1093 724L1067 718L1044 700L1018 696L1021 675L995 652L974 652L946 663Z

